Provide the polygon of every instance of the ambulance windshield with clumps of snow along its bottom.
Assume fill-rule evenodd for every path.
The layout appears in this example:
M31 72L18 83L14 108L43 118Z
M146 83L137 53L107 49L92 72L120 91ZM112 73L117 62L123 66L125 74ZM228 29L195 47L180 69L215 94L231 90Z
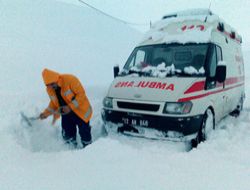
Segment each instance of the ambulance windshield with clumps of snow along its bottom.
M209 44L160 44L134 49L121 75L150 77L205 76Z

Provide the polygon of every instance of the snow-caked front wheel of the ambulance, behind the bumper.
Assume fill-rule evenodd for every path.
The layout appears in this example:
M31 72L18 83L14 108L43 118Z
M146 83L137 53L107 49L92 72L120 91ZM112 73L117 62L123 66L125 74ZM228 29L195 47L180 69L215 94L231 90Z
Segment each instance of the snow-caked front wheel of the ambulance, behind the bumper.
M198 131L197 137L191 141L191 146L196 148L200 142L203 142L208 139L208 136L215 129L214 114L211 109L203 115L202 124L200 130Z

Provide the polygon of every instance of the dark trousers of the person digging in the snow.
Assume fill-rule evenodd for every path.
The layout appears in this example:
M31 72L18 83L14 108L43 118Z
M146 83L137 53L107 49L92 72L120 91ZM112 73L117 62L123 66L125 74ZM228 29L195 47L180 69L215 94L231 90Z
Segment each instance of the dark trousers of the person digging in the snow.
M69 114L62 115L62 136L66 143L77 145L76 134L77 129L79 130L79 135L81 137L81 142L83 147L91 143L91 129L89 122L84 122L80 117L78 117L73 111Z

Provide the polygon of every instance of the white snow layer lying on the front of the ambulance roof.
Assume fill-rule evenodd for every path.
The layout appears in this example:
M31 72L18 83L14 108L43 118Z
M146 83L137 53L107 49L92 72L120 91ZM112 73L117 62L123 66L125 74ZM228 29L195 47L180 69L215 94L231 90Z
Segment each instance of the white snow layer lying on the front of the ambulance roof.
M188 20L200 21L204 22L207 19L207 23L212 23L218 20L221 20L216 14L209 15L208 9L191 9L186 11L180 11L177 13L172 13L169 15L177 15L177 17L169 17L166 19L162 19L154 23L148 31L141 42L145 42L149 39L152 39L154 42L162 42L162 43L189 43L189 42L199 42L206 43L211 39L212 26L206 26L204 31L201 31L200 28L194 28L192 30L187 30L184 33L180 28L173 32L169 30L165 30L167 27L170 27L171 24L176 23L184 23ZM166 15L168 16L168 15ZM169 33L170 32L170 33Z

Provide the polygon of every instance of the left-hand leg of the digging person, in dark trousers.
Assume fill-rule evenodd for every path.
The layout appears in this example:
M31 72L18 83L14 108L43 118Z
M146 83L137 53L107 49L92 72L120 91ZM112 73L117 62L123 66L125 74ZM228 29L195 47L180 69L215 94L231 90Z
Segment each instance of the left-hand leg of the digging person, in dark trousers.
M72 144L73 146L77 145L76 123L74 122L72 114L62 115L62 137L66 143Z

